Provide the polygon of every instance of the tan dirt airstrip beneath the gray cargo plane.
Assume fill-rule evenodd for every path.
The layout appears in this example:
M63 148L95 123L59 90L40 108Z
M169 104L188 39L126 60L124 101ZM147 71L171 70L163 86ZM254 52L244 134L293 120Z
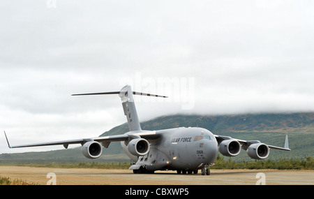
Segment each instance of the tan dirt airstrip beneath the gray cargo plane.
M49 173L55 174L52 176ZM47 176L48 175L48 176ZM211 175L178 175L174 171L133 174L132 170L92 168L33 168L0 166L0 176L29 183L57 185L195 185L195 184L306 184L314 185L314 170L211 170Z

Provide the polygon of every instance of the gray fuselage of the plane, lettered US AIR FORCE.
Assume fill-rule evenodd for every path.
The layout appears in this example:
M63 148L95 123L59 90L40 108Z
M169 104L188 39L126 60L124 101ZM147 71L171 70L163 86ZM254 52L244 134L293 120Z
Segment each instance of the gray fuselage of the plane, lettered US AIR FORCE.
M125 142L121 147L137 164L147 170L195 170L214 163L218 155L218 143L213 133L204 128L170 128L156 131L157 139L147 139L149 153L133 156Z

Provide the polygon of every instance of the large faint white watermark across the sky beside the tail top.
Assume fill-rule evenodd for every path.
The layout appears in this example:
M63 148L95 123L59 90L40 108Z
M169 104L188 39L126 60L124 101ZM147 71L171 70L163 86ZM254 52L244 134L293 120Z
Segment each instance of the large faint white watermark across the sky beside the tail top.
M133 91L167 96L167 98L140 98L144 102L181 103L182 110L191 110L195 106L195 78L193 77L144 77L135 73L135 78L120 79L120 86L130 84ZM139 101L137 100L137 101Z

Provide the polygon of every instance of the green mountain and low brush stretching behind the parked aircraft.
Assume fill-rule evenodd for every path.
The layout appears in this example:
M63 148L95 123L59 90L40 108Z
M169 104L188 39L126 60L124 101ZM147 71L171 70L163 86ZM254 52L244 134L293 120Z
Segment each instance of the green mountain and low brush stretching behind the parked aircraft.
M269 145L283 147L285 135L289 136L291 152L271 150L269 159L314 156L314 112L268 113L247 115L167 115L141 123L143 130L160 130L179 126L207 128L216 135L227 135L242 140L260 140ZM118 135L128 132L128 124L121 124L102 135ZM250 161L241 151L237 161ZM0 154L0 163L65 163L88 161L129 161L119 142L112 142L103 150L99 159L86 159L80 147L50 152L28 152L22 154Z

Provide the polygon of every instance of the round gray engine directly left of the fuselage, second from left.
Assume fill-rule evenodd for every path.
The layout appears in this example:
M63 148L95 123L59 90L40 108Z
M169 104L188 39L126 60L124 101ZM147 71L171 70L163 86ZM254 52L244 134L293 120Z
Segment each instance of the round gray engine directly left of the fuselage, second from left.
M144 138L130 140L128 151L134 156L144 156L149 152L149 142Z

